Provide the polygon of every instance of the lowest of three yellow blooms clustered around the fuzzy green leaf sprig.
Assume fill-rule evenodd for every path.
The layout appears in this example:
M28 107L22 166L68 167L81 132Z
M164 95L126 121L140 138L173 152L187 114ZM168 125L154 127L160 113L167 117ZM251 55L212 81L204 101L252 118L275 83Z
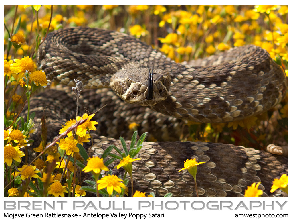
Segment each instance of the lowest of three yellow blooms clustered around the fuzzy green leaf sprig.
M119 179L115 175L105 176L102 179L98 180L98 190L104 189L107 187L107 192L109 195L115 190L118 193L121 193L121 187L125 189L125 185L122 183L123 180Z

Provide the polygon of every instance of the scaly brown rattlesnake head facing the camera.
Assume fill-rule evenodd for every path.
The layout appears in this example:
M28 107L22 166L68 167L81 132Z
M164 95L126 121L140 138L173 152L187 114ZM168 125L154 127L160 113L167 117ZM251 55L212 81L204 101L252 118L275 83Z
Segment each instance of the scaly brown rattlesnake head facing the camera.
M110 87L128 103L155 105L167 98L171 77L165 70L154 69L152 78L152 93L149 92L148 68L120 70L111 77Z

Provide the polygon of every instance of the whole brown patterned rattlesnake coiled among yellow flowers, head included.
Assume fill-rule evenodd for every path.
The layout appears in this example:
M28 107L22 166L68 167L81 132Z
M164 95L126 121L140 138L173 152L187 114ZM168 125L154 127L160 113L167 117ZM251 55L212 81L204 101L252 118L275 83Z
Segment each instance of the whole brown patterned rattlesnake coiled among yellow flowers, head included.
M69 86L78 79L91 89L111 87L132 103L121 101L109 89L82 92L81 108L93 112L107 104L97 113L102 134L113 129L112 133L127 136L125 120L140 120L142 131L176 140L182 119L203 123L244 119L275 106L287 89L280 67L254 45L194 62L194 66L178 64L129 35L86 27L53 31L38 51L38 63L48 79ZM153 87L148 91L152 67ZM74 96L66 88L47 90L31 103L31 111L39 118L37 134L45 111L48 138L75 115ZM152 130L153 125L161 125L161 133ZM115 138L105 136L94 135L93 142L93 155L101 155L110 144L121 147ZM135 189L156 196L167 192L176 197L195 195L192 177L186 171L178 172L190 158L206 162L197 174L201 197L242 197L247 186L258 181L264 197L286 196L280 190L269 191L274 178L288 173L288 159L261 150L222 143L163 141L144 143L138 157L142 160L134 162Z

